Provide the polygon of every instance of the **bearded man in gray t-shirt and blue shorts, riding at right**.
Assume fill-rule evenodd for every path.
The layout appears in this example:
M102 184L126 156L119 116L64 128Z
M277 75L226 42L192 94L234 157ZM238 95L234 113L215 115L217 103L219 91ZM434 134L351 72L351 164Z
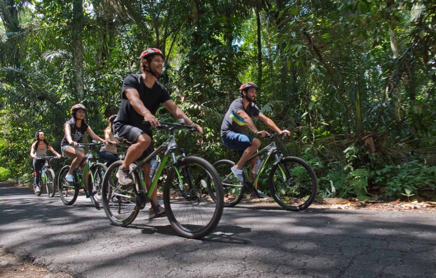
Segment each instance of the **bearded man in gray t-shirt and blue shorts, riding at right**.
M291 134L289 130L281 130L278 128L273 120L261 113L259 108L255 105L257 89L259 89L259 87L253 82L242 84L239 88L241 97L232 102L221 125L221 137L223 137L223 144L229 149L237 150L241 155L238 163L232 167L232 172L241 181L244 180L242 171L243 165L261 146L261 141L259 139L245 134L246 126L253 131L253 133L260 135L261 137L269 135L269 133L265 130L259 131L257 129L252 117L256 117L261 120L274 132L285 133L287 135ZM252 179L255 177L252 169L258 160L259 156L250 161L250 176ZM254 184L254 187L257 193L253 192L251 197L267 197L264 193L257 189L257 183Z

